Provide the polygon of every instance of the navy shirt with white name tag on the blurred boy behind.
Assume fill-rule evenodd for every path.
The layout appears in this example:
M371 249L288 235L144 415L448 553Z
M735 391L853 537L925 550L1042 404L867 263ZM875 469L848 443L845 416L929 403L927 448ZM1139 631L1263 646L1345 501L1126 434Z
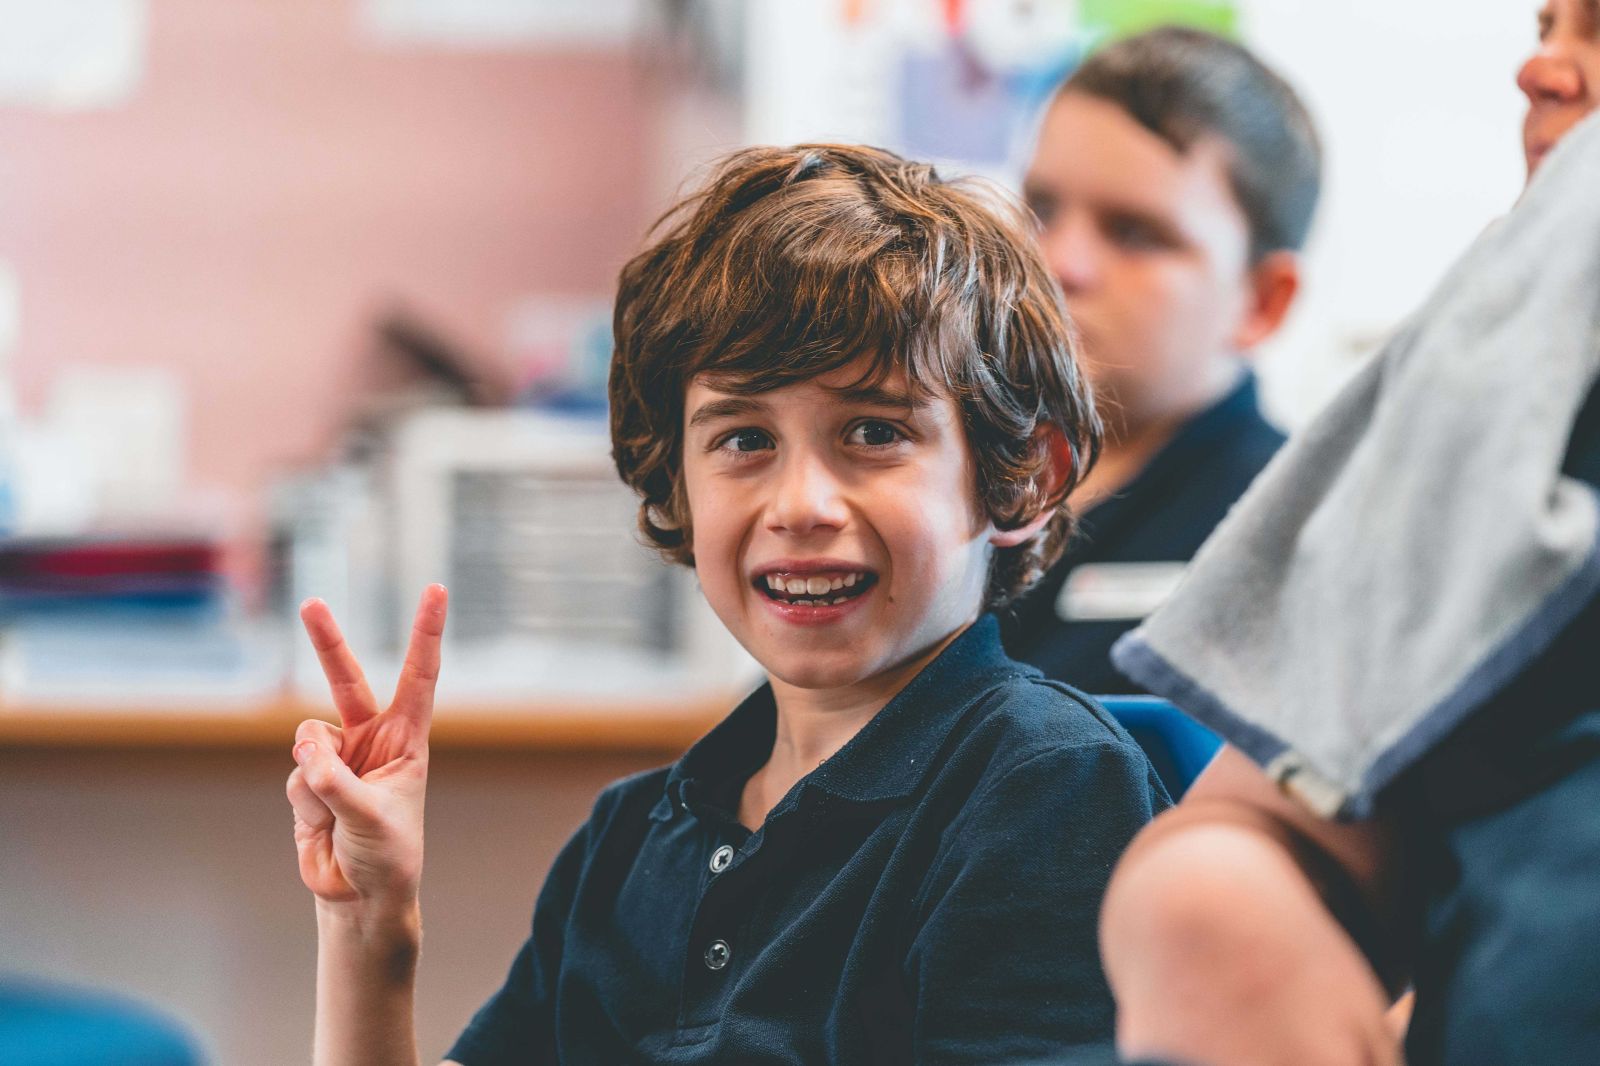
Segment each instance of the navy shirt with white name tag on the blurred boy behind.
M1110 645L1171 591L1283 440L1261 416L1246 373L1120 491L1083 512L1061 560L1006 613L1010 653L1083 691L1144 691L1112 666Z

